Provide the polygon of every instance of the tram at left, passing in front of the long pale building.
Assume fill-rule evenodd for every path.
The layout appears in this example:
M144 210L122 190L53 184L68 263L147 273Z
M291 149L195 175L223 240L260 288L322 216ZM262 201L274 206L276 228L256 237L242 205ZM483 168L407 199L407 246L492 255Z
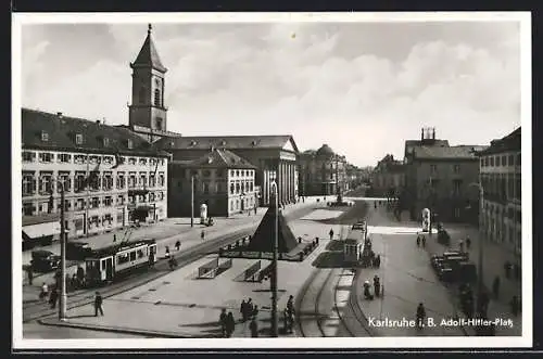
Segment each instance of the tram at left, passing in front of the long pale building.
M139 240L93 249L85 258L86 284L103 285L155 262L155 240Z

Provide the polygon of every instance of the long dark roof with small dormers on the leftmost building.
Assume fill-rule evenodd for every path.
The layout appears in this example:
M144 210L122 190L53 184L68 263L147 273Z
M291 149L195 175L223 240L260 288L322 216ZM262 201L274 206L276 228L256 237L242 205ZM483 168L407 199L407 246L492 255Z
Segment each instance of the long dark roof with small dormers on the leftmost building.
M29 108L21 110L21 118L23 149L167 156L126 128ZM42 132L47 141L42 140ZM81 144L76 143L76 134L83 134ZM103 139L108 139L106 145ZM128 148L128 140L132 149Z

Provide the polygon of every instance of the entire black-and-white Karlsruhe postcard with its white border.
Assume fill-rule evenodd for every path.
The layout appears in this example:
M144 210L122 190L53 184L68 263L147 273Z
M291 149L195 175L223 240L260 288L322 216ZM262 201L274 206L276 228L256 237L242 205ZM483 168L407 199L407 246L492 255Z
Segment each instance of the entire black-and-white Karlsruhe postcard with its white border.
M14 348L532 346L530 13L12 24Z

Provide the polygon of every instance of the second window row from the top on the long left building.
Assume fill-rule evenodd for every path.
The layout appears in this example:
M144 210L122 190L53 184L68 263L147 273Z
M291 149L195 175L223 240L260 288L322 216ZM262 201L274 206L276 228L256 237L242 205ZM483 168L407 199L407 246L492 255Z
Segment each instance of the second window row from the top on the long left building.
M36 178L36 175L38 175L38 178ZM59 193L62 189L65 192L72 192L72 190L81 192L87 190L87 187L90 191L112 191L113 182L115 182L115 189L117 190L123 190L126 187L129 189L164 187L165 183L163 172L159 172L157 176L154 172L139 172L139 176L136 172L129 172L128 176L125 176L125 172L117 172L116 175L115 177L112 172L105 171L100 176L100 172L92 171L88 176L85 171L75 171L74 176L72 176L71 171L59 171L58 176L54 177L53 171L39 171L37 174L35 171L23 171L23 195L48 194L53 192L54 188ZM55 179L62 185L58 185Z

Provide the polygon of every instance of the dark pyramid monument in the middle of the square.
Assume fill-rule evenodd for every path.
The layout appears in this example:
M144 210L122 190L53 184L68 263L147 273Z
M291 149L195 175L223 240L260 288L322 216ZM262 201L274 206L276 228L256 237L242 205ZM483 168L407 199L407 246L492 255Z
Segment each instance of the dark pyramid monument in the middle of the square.
M253 234L251 243L247 246L245 251L249 252L274 252L275 241L275 218L276 208L275 204L270 205L264 217L262 218L258 228ZM279 210L278 216L278 252L289 253L298 246L296 238L292 230L287 225L287 220Z

